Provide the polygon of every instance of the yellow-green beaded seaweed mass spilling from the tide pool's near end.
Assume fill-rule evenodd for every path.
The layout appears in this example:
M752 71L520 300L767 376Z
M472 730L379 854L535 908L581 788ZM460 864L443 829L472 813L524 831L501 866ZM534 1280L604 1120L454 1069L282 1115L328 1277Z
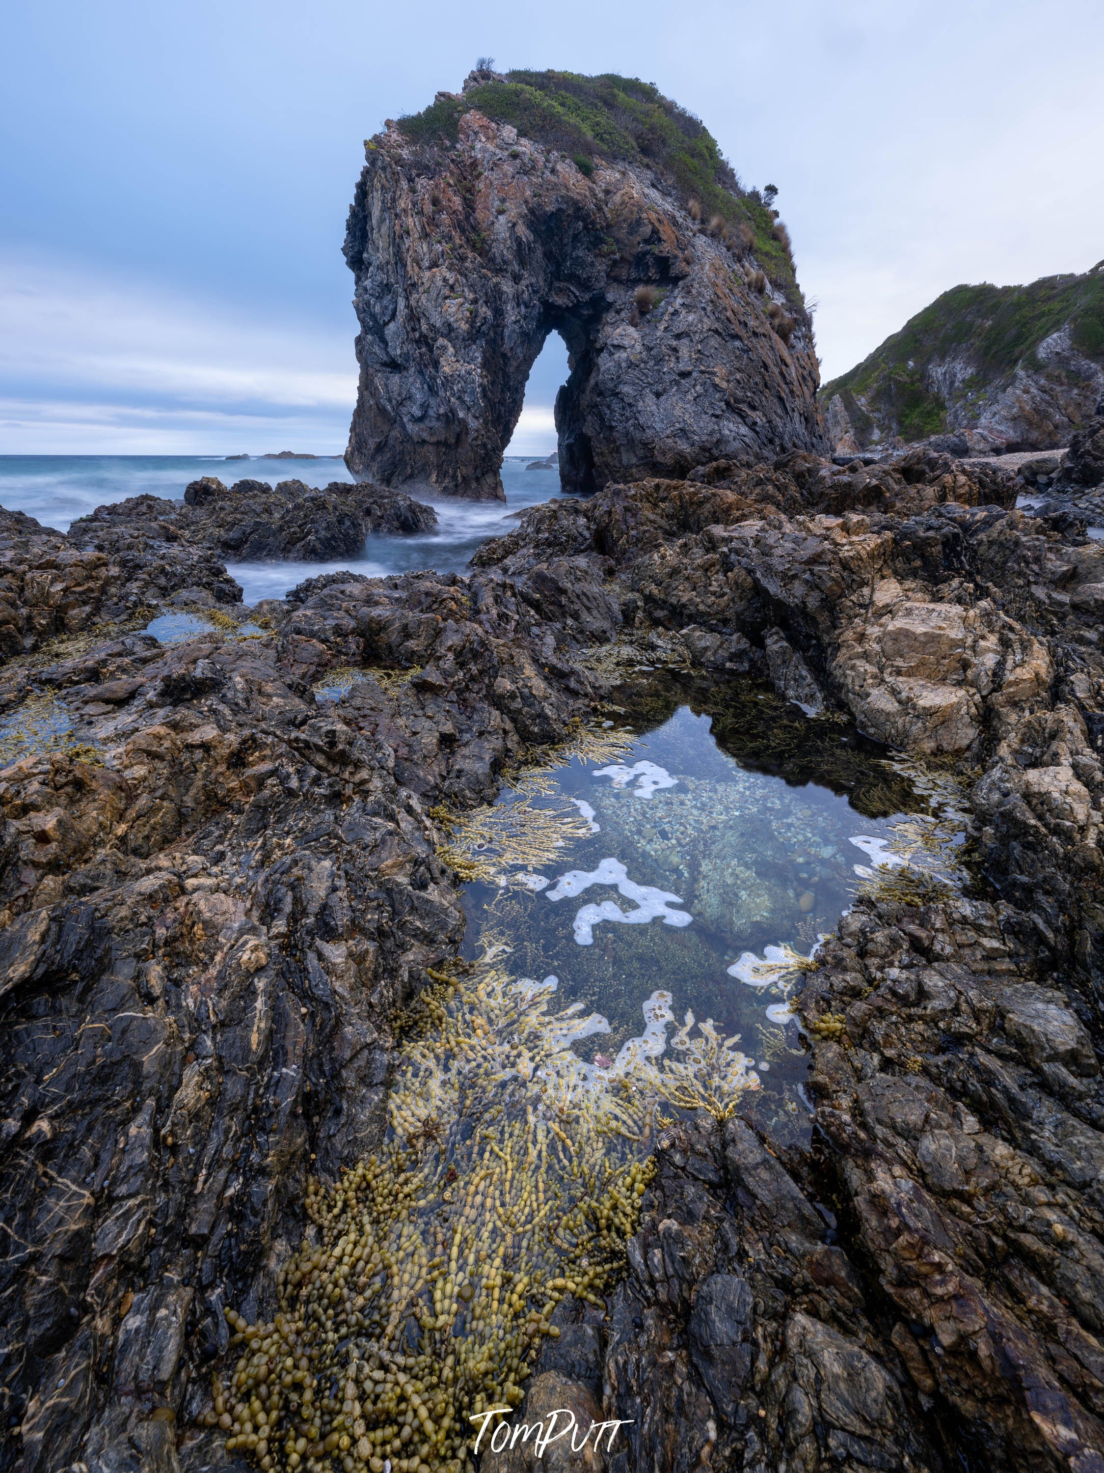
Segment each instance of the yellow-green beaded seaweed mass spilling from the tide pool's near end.
M280 1309L228 1311L241 1358L208 1424L262 1469L461 1473L471 1416L518 1405L565 1295L602 1307L624 1271L658 1106L732 1114L758 1080L736 1038L670 994L606 1069L571 1044L609 1024L549 1012L556 978L442 974L399 1056L392 1134L333 1186L311 1181ZM468 1464L470 1466L470 1464Z

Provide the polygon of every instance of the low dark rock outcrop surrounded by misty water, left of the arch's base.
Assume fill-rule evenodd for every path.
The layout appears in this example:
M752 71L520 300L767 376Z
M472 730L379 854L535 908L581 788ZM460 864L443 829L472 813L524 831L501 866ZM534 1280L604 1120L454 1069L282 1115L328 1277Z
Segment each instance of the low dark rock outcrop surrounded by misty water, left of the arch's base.
M437 526L437 513L402 492L367 482L331 482L324 489L302 480L238 480L227 488L213 476L193 480L184 505L160 496L128 496L81 517L71 536L102 545L134 530L209 548L238 563L305 563L358 557L369 533L412 536Z

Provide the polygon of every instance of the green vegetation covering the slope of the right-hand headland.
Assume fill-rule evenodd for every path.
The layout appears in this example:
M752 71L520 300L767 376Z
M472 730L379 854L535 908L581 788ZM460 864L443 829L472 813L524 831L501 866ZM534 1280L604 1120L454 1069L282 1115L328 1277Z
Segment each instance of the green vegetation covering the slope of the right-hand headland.
M842 398L860 443L924 439L976 421L1017 368L1061 374L1038 349L1063 327L1075 352L1104 361L1104 262L1083 275L1044 277L1029 286L951 287L861 364L826 383L820 399L827 405L835 395ZM948 362L970 371L938 374ZM936 383L952 377L957 386L948 404Z

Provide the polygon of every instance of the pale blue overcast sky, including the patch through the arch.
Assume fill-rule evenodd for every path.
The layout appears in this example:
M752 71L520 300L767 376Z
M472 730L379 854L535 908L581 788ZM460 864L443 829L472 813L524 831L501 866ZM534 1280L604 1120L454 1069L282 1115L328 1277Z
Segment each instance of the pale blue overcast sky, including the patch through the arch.
M364 138L477 55L654 81L777 184L826 379L1104 256L1100 0L9 0L0 40L0 454L343 449Z

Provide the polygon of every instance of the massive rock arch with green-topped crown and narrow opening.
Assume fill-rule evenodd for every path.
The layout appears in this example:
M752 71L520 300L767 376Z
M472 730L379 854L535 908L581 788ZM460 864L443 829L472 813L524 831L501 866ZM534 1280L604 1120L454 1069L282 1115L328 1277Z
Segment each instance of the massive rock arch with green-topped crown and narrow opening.
M573 365L556 398L567 491L821 445L786 228L655 87L475 72L365 156L344 240L355 474L502 499L551 331Z

